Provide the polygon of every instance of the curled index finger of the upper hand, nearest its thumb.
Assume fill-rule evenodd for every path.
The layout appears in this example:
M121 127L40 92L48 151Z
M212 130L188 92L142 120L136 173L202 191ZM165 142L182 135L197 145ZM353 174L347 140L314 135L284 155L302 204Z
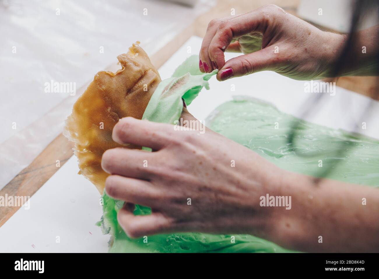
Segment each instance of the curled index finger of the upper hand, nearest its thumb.
M224 50L232 42L232 39L251 32L263 33L267 24L266 13L262 13L260 9L222 21L209 44L209 59L216 62L218 69L223 68L225 65Z

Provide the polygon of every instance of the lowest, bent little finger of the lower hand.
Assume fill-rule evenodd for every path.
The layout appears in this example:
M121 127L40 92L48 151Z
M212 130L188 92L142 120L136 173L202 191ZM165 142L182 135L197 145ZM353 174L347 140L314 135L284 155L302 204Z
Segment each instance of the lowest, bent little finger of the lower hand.
M134 215L125 205L117 213L117 221L130 238L153 235L171 231L174 220L162 213L153 212L150 215Z

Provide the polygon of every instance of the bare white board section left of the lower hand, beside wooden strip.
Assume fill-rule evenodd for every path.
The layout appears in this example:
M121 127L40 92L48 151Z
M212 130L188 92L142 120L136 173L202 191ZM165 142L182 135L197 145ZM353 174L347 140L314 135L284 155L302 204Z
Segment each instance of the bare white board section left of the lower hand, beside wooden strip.
M0 228L0 252L107 252L109 235L95 223L102 216L99 191L72 156Z

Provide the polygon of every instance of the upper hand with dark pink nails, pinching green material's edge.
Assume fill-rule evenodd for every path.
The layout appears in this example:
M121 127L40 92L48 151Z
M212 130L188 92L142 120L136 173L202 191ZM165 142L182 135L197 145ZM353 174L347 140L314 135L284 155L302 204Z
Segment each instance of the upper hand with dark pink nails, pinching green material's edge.
M200 50L200 71L220 69L218 80L263 70L298 80L329 77L345 35L323 32L286 13L265 5L240 16L214 19ZM244 55L225 62L224 51Z

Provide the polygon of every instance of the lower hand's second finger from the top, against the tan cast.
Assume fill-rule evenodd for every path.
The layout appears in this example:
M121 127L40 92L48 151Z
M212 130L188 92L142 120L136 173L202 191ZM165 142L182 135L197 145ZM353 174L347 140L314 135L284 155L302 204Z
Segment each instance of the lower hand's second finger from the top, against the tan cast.
M110 174L149 180L154 170L151 164L154 156L145 150L112 148L103 153L101 167Z

